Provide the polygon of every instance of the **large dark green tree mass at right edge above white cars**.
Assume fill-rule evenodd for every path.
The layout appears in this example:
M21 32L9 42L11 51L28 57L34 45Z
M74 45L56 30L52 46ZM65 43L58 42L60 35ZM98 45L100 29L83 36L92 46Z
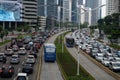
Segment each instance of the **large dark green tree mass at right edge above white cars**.
M114 13L98 20L99 30L103 30L111 42L120 38L119 16L120 13Z

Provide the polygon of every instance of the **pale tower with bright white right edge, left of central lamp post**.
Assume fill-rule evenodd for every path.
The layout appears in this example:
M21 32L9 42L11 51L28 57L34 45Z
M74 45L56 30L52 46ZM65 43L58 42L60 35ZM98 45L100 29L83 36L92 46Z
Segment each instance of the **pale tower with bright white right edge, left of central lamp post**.
M63 21L71 22L71 0L63 0Z

